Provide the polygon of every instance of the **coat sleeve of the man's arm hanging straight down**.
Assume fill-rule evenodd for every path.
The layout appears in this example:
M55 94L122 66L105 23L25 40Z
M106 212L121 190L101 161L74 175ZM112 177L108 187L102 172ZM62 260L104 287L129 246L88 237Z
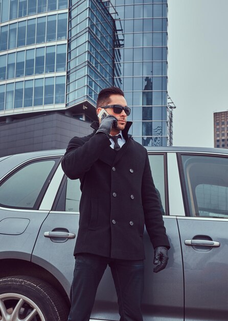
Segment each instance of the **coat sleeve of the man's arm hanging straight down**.
M153 248L157 246L166 246L169 249L170 244L166 235L162 210L153 183L147 152L142 179L142 204L145 216L145 226Z

